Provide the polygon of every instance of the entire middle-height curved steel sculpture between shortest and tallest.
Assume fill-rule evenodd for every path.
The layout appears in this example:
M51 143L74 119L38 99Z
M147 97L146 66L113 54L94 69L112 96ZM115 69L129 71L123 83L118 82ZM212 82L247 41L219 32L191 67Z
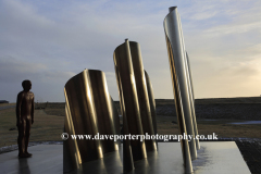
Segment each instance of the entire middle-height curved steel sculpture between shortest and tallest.
M154 98L150 80L144 71L139 44L126 39L115 49L113 59L123 115L123 134L154 135L157 133ZM154 150L156 140L125 139L124 172L133 171L134 161L146 159L147 151Z

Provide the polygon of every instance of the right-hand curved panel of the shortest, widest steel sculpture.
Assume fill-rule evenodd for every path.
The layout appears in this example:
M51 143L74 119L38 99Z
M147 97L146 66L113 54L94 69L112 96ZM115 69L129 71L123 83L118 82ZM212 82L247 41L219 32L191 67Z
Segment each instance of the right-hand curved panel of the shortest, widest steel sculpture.
M115 135L114 113L108 90L105 74L99 70L88 70L95 101L100 135ZM120 125L119 125L120 127ZM103 153L117 150L117 144L111 139L100 140Z

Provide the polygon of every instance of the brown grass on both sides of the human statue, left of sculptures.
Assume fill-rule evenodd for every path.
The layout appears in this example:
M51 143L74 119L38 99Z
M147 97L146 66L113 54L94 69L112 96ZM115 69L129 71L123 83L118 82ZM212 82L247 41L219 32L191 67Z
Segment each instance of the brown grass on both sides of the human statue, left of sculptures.
M63 125L64 116L48 115L44 110L35 110L35 123L32 125L29 140L61 140ZM0 110L0 147L16 145L17 135L15 109Z

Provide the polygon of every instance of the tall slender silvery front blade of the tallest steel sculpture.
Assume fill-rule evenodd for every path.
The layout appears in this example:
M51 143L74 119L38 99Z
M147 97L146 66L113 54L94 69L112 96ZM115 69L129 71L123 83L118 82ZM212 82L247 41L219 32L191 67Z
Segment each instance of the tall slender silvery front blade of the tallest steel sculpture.
M170 59L179 134L183 135L185 133L195 136L188 88L188 71L186 70L187 66L185 61L186 52L179 14L176 7L170 8L170 13L165 16L163 25ZM186 172L191 173L191 159L197 158L196 142L194 138L189 142L187 139L184 139L182 141L182 149Z

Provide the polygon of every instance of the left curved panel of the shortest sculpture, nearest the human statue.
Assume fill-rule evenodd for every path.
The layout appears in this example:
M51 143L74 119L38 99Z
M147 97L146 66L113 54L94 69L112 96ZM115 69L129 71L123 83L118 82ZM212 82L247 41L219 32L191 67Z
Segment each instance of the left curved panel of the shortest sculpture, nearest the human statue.
M88 70L72 77L65 84L64 91L67 109L66 117L70 117L71 122L69 124L74 127L75 134L97 135L99 129ZM76 142L82 162L102 158L103 152L99 140L77 139ZM77 151L74 150L74 147L69 148Z

